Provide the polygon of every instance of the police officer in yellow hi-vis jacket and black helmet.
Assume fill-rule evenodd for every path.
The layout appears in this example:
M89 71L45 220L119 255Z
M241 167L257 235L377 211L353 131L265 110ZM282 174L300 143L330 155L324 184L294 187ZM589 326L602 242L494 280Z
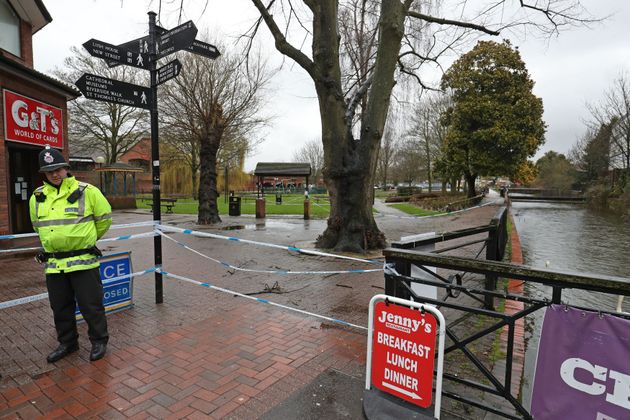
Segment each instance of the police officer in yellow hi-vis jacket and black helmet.
M77 181L68 167L61 152L46 146L39 154L46 180L30 199L31 222L44 248L36 259L45 264L59 341L48 363L79 349L75 299L88 325L91 361L105 356L109 339L96 241L112 223L111 207L98 188Z

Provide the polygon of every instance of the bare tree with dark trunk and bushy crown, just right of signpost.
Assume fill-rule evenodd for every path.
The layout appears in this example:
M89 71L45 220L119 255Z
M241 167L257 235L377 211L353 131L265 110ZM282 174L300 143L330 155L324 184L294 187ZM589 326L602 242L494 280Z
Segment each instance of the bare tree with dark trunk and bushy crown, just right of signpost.
M218 223L217 159L222 149L232 150L236 143L256 138L256 129L266 123L261 114L263 93L272 73L260 57L250 57L244 66L229 52L217 60L193 54L181 54L179 60L182 72L165 85L160 113L165 129L181 136L183 150L190 150L193 165L198 146L197 222ZM229 157L226 152L224 158Z

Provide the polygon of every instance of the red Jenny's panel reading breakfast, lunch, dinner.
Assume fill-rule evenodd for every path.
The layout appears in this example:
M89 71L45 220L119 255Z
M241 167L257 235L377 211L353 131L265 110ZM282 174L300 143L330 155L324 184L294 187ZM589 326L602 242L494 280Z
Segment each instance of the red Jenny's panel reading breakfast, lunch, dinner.
M420 407L431 405L435 317L393 303L374 308L372 384Z

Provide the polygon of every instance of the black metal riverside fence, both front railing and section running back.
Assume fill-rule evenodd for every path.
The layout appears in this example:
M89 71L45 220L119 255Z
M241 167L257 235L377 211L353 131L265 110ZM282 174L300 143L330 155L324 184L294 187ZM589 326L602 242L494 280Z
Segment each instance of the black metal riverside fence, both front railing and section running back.
M397 242L392 244L394 248L388 248L383 251L386 257L385 292L388 295L405 299L411 297L415 301L434 304L439 308L446 308L445 310L451 310L453 313L461 314L461 318L456 319L454 322L449 320L449 325L446 326L447 339L450 339L450 343L445 349L445 355L456 351L461 352L466 360L470 361L476 368L476 375L473 376L481 376L483 381L464 377L461 374L453 374L449 372L449 366L445 365L445 384L448 382L455 383L458 384L460 388L463 387L463 389L471 390L471 392L467 394L466 392L445 390L442 393L444 397L505 418L530 419L532 418L531 414L518 398L519 390L513 389L512 387L516 322L552 303L563 303L562 294L566 289L629 296L630 279L534 269L527 266L501 262L500 260L503 258L508 237L506 220L507 212L505 209L501 209L492 223L487 226L450 232L436 238L423 239L422 241ZM421 244L442 242L462 238L471 234L477 235L483 232L488 232L486 238L471 240L464 244L460 243L457 246L442 248L435 252L412 250ZM477 256L481 255L481 252L485 249L485 260L443 255L448 250L482 242L484 246ZM428 273L429 276L422 276L422 278L411 277L409 272L412 264L420 267L424 272ZM441 271L454 272L454 274L440 274L439 271L432 271L430 269L431 267L436 267L441 269ZM464 276L463 273L476 274L482 279L485 277L485 282L482 280L478 283L479 286L472 287L469 284L463 284L461 281ZM534 298L523 294L509 293L507 290L496 290L496 281L498 278L516 279L522 280L525 283L549 286L549 288L546 288L548 289L548 296ZM440 288L443 290L443 297L432 299L418 296L412 290L411 285L414 283ZM462 303L462 297L468 297L466 303ZM503 311L495 309L498 303L507 301L522 302L523 309L514 314L506 314ZM619 313L602 311L601 308L572 306L585 310L628 317ZM467 331L465 336L461 335L461 332L456 333L454 331L455 324L459 323L461 319L471 316L483 316L493 321L490 325L483 325L478 330ZM505 373L503 377L499 377L493 373L492 367L484 364L482 361L483 358L480 357L478 353L480 349L475 348L473 344L483 337L496 334L505 327L507 327L507 350L504 356ZM486 402L484 399L478 398L478 395L475 393L478 394L479 391L499 397L499 399L503 401L503 405L497 407L496 405Z

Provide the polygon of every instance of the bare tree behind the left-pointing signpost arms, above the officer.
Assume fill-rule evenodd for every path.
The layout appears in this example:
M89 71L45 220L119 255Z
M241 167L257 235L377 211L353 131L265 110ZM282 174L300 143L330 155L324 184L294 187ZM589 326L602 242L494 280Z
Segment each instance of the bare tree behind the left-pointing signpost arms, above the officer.
M129 66L109 68L104 60L92 58L83 49L71 48L72 56L64 60L54 74L74 84L84 73L134 84L147 84L141 70ZM114 163L135 146L148 132L149 113L140 108L78 98L68 103L69 132L72 153L93 156L101 154L105 163Z

